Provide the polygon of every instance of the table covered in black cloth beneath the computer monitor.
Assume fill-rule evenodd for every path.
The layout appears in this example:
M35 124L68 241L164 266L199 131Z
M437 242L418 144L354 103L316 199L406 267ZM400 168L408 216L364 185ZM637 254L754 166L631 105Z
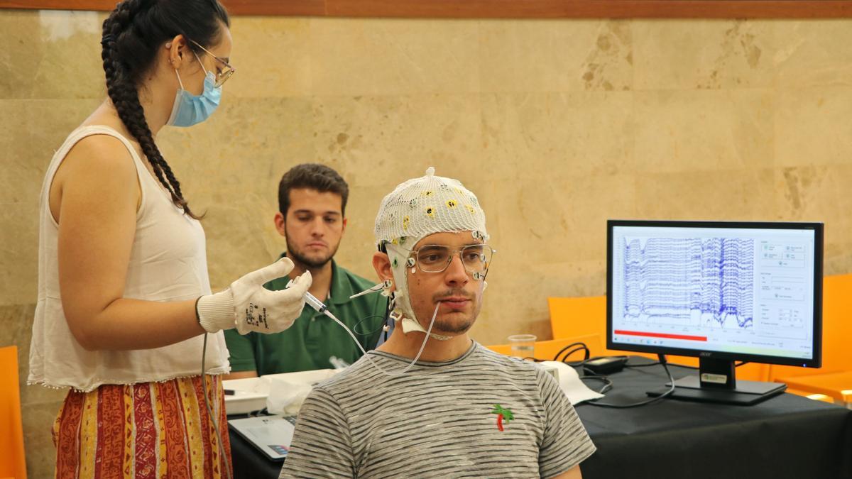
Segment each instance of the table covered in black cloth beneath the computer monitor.
M695 373L670 369L675 378ZM610 378L606 401L615 403L648 399L646 390L668 381L660 366ZM629 409L580 404L577 413L597 446L581 465L584 479L852 479L852 411L797 395L754 406L669 399ZM278 476L281 463L233 432L231 450L235 478Z

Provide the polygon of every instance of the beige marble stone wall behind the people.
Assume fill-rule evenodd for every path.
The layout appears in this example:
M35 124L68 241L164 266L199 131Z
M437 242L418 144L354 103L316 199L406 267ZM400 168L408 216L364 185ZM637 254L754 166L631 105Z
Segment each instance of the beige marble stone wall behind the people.
M103 14L0 10L0 346L26 378L45 166L104 96ZM826 222L852 270L848 20L238 17L223 106L159 143L207 211L214 287L271 261L279 176L351 187L341 263L374 277L379 200L429 165L480 196L498 250L473 334L550 337L546 298L602 295L607 218ZM21 386L32 477L61 391Z

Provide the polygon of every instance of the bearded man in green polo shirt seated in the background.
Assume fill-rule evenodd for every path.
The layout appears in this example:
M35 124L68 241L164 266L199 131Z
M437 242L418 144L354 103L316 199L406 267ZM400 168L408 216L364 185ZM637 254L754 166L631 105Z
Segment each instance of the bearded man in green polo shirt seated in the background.
M281 290L291 278L310 271L314 281L308 291L349 326L364 349L372 349L382 332L388 300L377 294L349 299L376 281L350 273L332 259L346 229L348 193L337 171L322 164L299 164L281 177L275 228L287 244L281 256L290 257L296 267L290 277L265 286ZM241 336L227 331L225 341L231 353L228 379L325 369L334 366L332 357L351 364L361 356L348 332L309 307L283 332Z

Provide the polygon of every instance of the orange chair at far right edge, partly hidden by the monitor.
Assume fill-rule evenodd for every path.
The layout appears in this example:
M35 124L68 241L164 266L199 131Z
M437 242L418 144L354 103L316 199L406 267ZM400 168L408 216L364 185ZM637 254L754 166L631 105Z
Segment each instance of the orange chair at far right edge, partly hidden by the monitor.
M822 280L822 367L772 366L771 378L852 371L852 274Z

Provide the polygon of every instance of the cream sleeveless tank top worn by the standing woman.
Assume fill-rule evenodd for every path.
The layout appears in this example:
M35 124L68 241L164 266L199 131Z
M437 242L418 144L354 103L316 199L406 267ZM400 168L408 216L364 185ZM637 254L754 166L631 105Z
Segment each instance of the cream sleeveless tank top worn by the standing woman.
M50 161L39 206L38 303L32 326L28 384L90 391L101 384L135 384L201 373L204 336L163 348L87 351L72 335L62 311L57 237L50 212L50 185L69 150L90 135L108 135L124 143L133 157L141 185L141 206L130 251L124 297L147 301L181 301L210 294L204 228L183 214L148 172L130 141L107 126L74 130ZM210 334L204 363L209 374L228 372L222 332Z

